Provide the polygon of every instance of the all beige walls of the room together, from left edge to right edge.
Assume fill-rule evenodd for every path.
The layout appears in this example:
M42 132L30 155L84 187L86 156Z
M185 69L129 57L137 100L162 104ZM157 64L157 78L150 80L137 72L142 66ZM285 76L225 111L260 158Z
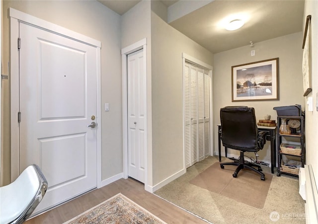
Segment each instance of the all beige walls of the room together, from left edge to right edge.
M183 34L166 24L166 12L159 2L152 4L142 1L134 8L119 16L97 1L3 1L3 74L7 74L8 62L8 7L26 12L68 29L74 30L101 41L101 108L110 104L110 111L102 110L102 180L121 173L122 161L122 89L120 50L143 38L147 38L147 82L149 111L152 124L149 132L148 166L149 183L154 186L165 178L183 169L183 121L182 121L182 53L186 53L209 65L213 71L213 150L217 151L217 127L220 123L219 110L227 105L247 105L256 110L256 119L265 114L276 117L275 106L301 104L305 110L306 97L302 87L302 33L255 43L256 55L250 56L249 46L213 55ZM151 12L150 7L156 11ZM306 1L304 19L313 15L312 33L317 36L318 3ZM83 16L85 15L85 16ZM162 19L163 18L163 19ZM312 60L317 62L318 39L312 38ZM278 101L231 102L231 66L270 58L279 58ZM316 102L318 91L318 64L313 63L313 93ZM290 90L291 86L293 90ZM3 184L10 182L10 145L9 145L9 86L2 83L2 138ZM307 163L314 166L318 175L318 153L316 139L318 133L317 111L306 111ZM260 159L270 160L269 144L260 152ZM169 164L169 165L167 165Z

